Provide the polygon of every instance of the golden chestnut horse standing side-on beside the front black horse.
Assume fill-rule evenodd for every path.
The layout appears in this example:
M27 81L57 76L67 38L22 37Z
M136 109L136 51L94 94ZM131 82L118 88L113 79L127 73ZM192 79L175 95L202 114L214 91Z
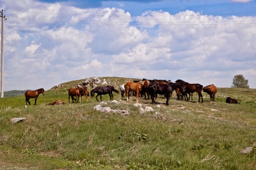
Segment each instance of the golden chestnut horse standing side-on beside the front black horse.
M145 87L146 89L149 87L149 81L145 80L145 81L139 81L138 83L132 82L132 81L128 81L126 84L124 84L124 89L126 89L126 98L127 101L129 101L129 92L136 92L136 101L138 102L138 98L139 98L139 92L141 91L141 89Z

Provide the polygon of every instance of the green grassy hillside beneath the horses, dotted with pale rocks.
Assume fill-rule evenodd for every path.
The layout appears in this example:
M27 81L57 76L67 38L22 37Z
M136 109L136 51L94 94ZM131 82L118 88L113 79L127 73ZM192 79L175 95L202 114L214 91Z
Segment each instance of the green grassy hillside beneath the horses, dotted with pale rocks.
M115 89L132 78L104 77ZM103 78L100 78L101 80ZM102 107L129 114L94 109L96 99L68 104L70 81L40 95L37 105L24 96L0 99L0 168L27 169L255 169L256 89L219 88L216 102L203 93L203 103L177 101L165 105L151 100L104 95ZM226 97L241 104L226 104ZM64 105L46 105L57 99ZM149 112L142 110L152 107ZM11 118L27 118L16 124Z

